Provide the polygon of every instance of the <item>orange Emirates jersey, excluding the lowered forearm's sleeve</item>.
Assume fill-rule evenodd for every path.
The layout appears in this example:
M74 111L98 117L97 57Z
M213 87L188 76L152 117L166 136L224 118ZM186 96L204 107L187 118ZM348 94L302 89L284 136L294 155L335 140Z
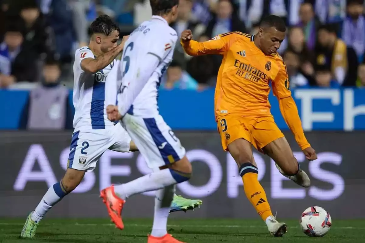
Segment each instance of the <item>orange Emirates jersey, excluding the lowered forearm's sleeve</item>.
M270 81L279 98L291 95L283 59L276 54L265 56L255 46L253 38L241 32L230 32L208 42L191 41L190 48L185 49L193 55L223 55L215 89L216 118L226 113L270 115Z

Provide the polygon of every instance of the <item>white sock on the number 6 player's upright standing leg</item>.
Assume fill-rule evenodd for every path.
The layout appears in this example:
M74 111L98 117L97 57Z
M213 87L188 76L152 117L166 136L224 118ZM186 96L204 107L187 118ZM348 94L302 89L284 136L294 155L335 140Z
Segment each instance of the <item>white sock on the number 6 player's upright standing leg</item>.
M162 237L167 234L167 219L170 213L170 207L161 208L162 198L164 197L164 190L165 189L172 189L174 187L163 188L156 191L155 196L155 212L153 217L153 226L151 235L154 237ZM171 201L173 199L173 193L171 193Z

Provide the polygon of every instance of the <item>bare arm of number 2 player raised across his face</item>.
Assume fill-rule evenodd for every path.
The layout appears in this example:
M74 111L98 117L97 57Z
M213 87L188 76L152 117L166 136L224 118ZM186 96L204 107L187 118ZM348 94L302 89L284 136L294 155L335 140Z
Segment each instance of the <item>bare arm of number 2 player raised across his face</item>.
M98 56L97 58L85 58L81 60L81 68L85 72L95 73L108 66L123 51L124 43L129 36L123 36L122 42L112 50Z

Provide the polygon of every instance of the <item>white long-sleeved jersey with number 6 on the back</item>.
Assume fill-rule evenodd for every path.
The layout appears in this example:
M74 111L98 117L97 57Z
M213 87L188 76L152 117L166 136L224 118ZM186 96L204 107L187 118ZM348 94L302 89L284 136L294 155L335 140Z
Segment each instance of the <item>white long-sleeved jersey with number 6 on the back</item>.
M127 112L145 118L158 115L158 89L176 41L176 31L160 16L152 16L132 32L124 44L118 70L118 80L122 80L118 106L122 115Z

